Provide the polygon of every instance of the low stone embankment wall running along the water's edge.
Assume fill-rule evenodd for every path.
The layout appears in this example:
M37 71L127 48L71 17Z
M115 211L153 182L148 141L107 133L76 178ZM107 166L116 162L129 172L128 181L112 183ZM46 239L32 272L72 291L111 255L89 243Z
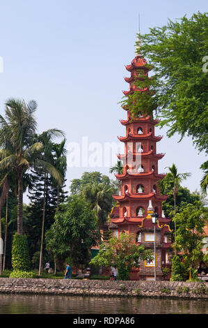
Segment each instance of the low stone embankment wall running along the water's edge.
M109 297L183 297L208 300L208 283L0 278L0 293Z

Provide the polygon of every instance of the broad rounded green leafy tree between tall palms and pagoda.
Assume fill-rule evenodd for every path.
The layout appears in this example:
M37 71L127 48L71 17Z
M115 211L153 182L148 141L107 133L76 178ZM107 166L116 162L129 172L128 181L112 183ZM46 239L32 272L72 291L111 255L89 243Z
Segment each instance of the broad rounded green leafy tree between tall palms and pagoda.
M84 263L88 250L99 240L95 211L78 195L60 204L54 224L46 232L47 251L56 258L70 257L74 265Z

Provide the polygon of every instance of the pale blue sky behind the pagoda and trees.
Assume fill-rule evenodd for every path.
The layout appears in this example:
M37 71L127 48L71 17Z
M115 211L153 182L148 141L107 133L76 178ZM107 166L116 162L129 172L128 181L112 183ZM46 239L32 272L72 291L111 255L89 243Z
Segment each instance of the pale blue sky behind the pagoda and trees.
M118 142L125 128L119 119L126 113L118 102L129 84L125 65L134 58L138 15L141 33L183 15L190 17L207 11L207 1L95 1L7 0L0 2L0 112L7 98L38 102L38 131L60 128L67 142ZM168 139L166 128L158 152L159 172L175 163L179 172L191 172L184 182L199 189L199 167L205 154L198 154L191 138L180 143L175 135ZM108 167L69 167L70 180L82 172Z

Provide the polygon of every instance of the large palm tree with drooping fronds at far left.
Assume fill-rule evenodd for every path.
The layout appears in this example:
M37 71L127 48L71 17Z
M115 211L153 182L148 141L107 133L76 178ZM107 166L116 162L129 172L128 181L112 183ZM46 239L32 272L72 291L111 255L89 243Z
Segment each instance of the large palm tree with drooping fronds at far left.
M53 165L40 158L41 142L35 142L37 122L34 114L37 103L30 100L8 99L5 118L0 115L0 170L15 172L17 177L17 233L22 232L23 214L23 177L34 165L41 165L48 172L54 172L61 183L61 174L54 170Z

